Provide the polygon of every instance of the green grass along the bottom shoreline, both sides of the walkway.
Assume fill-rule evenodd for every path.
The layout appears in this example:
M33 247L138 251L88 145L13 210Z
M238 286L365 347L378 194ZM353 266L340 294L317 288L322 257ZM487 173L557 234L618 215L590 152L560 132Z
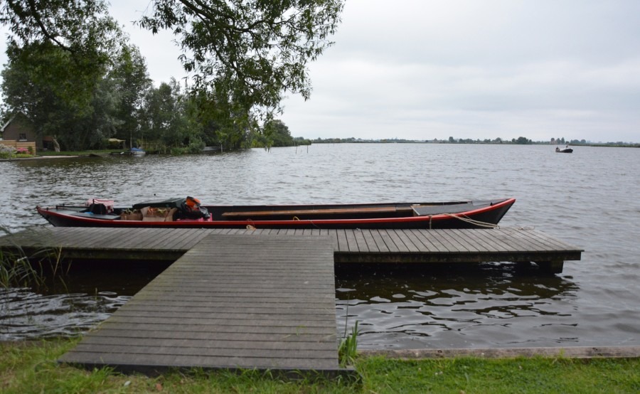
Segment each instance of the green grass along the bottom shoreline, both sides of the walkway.
M247 371L149 378L84 371L55 360L78 339L0 344L1 393L639 393L640 359L358 358L361 383L284 381Z

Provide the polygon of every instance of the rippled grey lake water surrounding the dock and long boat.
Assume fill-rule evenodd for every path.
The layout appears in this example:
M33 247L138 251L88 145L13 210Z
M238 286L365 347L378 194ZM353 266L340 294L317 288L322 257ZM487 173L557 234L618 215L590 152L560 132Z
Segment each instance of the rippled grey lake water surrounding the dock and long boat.
M336 327L359 348L638 346L640 149L467 144L316 144L198 156L0 162L0 225L43 226L35 206L113 198L129 205L356 203L515 197L502 227L585 249L561 275L509 264L349 270L336 276ZM74 267L65 284L0 289L0 340L89 329L158 267Z

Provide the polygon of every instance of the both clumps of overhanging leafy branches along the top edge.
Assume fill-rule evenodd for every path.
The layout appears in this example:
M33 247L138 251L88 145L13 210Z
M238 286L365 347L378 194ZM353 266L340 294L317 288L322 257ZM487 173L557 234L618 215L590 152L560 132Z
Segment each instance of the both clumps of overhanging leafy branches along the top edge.
M206 92L215 114L281 111L286 92L308 99L307 65L331 46L344 0L151 0L139 26L169 30L183 51L193 90ZM82 53L86 23L104 20L103 0L4 0L2 23L13 38L48 40ZM238 119L235 119L237 124Z

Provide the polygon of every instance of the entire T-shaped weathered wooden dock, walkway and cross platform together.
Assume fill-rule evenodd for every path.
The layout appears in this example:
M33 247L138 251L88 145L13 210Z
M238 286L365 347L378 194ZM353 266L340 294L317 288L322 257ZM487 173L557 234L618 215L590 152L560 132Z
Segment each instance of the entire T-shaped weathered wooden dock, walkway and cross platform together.
M32 228L0 251L174 262L60 360L88 368L256 368L352 376L338 366L334 264L536 262L582 250L535 230Z

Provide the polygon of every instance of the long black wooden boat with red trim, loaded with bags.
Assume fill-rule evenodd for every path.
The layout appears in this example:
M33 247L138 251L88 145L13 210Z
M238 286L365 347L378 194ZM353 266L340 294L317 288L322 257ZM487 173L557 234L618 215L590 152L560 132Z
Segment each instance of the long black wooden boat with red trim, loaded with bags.
M484 228L495 227L515 198L447 203L364 203L282 206L201 206L185 211L185 199L131 207L103 204L36 207L58 227L145 228ZM97 209L99 208L99 209Z

